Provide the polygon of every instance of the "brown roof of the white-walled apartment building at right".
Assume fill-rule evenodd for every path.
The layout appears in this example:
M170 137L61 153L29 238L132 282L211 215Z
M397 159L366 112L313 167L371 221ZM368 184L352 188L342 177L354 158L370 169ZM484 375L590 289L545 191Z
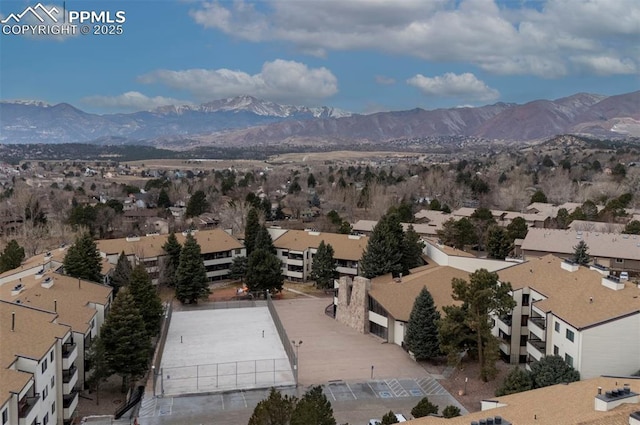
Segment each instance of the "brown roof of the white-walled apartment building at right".
M569 272L560 267L561 263L558 257L546 255L499 271L498 275L500 281L511 282L513 289L530 287L548 297L537 301L536 307L553 312L578 329L640 312L635 285L627 283L624 289L614 291L602 285L602 275L597 271L580 267Z

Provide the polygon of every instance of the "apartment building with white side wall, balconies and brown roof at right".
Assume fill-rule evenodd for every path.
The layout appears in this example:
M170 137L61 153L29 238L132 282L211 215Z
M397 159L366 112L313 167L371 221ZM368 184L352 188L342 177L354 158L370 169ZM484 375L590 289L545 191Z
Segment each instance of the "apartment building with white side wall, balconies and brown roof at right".
M640 289L599 267L581 267L553 255L498 272L517 305L495 317L494 335L510 363L527 367L559 355L580 376L630 375L640 359Z

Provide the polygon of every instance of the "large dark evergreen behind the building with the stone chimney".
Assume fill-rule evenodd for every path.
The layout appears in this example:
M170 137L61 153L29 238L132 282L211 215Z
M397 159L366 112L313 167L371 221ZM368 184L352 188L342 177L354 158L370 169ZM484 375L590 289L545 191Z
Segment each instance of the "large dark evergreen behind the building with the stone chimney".
M373 228L367 248L362 254L362 272L366 278L402 272L404 234L396 214L382 216Z

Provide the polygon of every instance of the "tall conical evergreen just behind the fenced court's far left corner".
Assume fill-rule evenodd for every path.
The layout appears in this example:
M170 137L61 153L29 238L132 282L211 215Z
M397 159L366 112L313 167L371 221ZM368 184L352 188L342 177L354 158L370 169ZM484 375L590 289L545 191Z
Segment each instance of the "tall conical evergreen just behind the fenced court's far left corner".
M209 293L200 245L189 233L180 251L180 264L176 270L176 298L181 303L197 303Z

